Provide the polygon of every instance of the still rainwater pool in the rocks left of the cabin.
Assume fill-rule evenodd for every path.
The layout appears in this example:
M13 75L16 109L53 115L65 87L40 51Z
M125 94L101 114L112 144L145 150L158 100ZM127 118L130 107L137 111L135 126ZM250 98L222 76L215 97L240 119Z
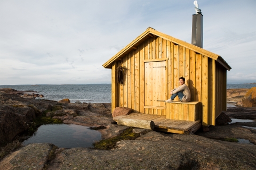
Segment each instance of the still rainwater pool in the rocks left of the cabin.
M101 133L86 126L75 124L41 125L35 134L23 141L29 143L52 143L59 148L93 147L92 143L101 140Z

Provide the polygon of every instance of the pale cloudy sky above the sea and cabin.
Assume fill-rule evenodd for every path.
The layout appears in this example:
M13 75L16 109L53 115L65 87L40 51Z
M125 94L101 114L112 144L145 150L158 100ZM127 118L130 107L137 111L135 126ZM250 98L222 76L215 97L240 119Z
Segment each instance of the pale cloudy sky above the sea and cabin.
M194 0L1 0L0 85L111 83L102 64L148 27L191 43ZM256 1L198 0L204 49L256 82Z

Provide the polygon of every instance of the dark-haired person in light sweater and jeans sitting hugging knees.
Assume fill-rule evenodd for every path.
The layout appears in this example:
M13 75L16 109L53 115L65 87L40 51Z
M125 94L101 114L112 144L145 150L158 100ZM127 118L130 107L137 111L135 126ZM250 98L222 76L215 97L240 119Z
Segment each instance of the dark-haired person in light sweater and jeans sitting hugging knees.
M190 101L190 90L185 84L185 78L181 77L179 79L180 86L171 90L171 98L165 100L165 103L171 103L174 98L178 95L181 102L189 102Z

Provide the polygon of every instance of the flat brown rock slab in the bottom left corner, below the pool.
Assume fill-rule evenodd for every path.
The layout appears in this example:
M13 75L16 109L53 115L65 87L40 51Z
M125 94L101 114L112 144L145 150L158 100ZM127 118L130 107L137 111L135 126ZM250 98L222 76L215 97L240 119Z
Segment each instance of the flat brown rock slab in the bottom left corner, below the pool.
M54 145L31 143L5 157L0 169L43 169Z

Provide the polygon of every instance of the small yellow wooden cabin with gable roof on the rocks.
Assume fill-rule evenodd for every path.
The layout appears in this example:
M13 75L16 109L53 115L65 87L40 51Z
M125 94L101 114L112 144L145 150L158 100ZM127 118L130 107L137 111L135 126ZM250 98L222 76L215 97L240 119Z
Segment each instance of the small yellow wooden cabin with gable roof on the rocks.
M116 107L128 107L133 111L131 118L156 117L152 119L157 130L186 133L198 124L215 125L215 119L226 111L227 70L231 67L225 60L153 28L149 27L103 66L112 70L112 112ZM117 80L119 66L124 69L123 84ZM179 86L180 77L186 79L191 102L181 103L177 97L177 101L165 103L171 90ZM160 125L161 120L165 124Z

